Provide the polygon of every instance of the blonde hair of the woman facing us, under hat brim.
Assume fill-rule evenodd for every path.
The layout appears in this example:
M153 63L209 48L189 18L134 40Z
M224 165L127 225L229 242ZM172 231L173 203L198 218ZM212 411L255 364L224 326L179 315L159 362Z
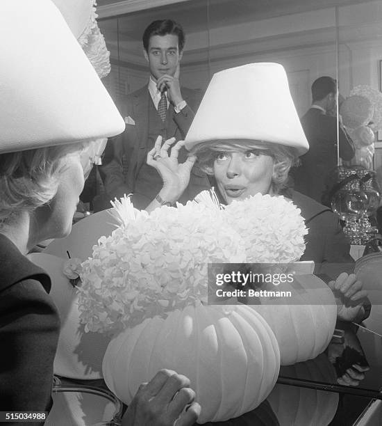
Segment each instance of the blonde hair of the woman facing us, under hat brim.
M213 175L213 165L217 152L258 150L260 154L269 155L274 160L272 192L278 194L285 187L290 168L298 164L297 151L286 145L265 141L238 139L237 141L206 141L195 145L190 155L196 155L201 170Z

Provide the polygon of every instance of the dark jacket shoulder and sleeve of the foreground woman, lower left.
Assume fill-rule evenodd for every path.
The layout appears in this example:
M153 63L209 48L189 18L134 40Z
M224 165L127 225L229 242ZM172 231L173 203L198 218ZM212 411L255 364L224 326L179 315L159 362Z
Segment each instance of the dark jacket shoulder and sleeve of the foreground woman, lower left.
M40 282L0 292L0 411L49 411L59 329L56 306Z

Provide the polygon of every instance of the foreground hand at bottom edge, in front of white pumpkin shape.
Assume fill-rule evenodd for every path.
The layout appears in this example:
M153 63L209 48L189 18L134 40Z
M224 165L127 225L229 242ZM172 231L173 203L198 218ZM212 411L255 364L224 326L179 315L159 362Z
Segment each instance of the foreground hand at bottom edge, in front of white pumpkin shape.
M199 417L201 408L194 402L190 380L172 370L160 370L140 385L128 406L122 426L189 426Z

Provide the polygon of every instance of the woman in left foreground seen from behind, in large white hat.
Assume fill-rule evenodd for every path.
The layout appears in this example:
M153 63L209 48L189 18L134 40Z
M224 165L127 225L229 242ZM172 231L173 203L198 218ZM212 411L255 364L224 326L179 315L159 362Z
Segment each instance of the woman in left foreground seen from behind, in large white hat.
M84 175L124 120L51 0L1 1L0 39L0 411L49 411L60 320L49 276L25 255L70 232ZM189 384L158 372L123 424L192 425Z

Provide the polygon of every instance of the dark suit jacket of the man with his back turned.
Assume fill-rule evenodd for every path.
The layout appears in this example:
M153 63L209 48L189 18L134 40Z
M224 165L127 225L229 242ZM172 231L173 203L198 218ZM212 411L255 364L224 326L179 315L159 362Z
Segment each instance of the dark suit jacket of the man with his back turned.
M337 120L319 109L311 108L301 117L309 150L300 157L301 166L294 168L294 189L322 203L329 174L337 165ZM340 157L354 157L354 145L340 128Z

